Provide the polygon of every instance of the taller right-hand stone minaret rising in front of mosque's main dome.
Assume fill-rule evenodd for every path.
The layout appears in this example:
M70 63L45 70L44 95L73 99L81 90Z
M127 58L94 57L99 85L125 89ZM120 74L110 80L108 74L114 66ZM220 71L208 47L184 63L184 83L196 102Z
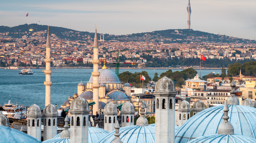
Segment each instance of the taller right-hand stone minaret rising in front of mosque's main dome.
M97 39L97 29L95 25L95 37L94 37L94 45L93 45L93 101L95 105L93 106L93 115L96 115L96 112L99 111L99 58L98 58L99 48L98 48L98 39Z

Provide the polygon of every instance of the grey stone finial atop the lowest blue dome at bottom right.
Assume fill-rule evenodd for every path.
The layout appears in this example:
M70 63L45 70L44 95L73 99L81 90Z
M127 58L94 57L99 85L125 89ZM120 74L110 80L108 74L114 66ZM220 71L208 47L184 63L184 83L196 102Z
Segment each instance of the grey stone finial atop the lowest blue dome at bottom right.
M229 119L229 117L227 116L227 113L229 111L227 103L225 103L223 111L224 111L224 116L222 117L222 119L224 119L224 120L218 128L218 134L219 135L234 135L234 127L227 120L227 119Z

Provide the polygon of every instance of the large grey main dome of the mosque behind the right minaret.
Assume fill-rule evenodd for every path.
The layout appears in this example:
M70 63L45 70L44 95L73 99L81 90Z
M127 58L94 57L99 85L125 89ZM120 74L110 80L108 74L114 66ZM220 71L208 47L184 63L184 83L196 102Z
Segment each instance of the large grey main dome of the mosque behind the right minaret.
M109 70L109 69L100 69L99 70L99 82L100 83L120 83L118 76L115 72ZM93 83L93 76L90 77L90 80L88 83Z

